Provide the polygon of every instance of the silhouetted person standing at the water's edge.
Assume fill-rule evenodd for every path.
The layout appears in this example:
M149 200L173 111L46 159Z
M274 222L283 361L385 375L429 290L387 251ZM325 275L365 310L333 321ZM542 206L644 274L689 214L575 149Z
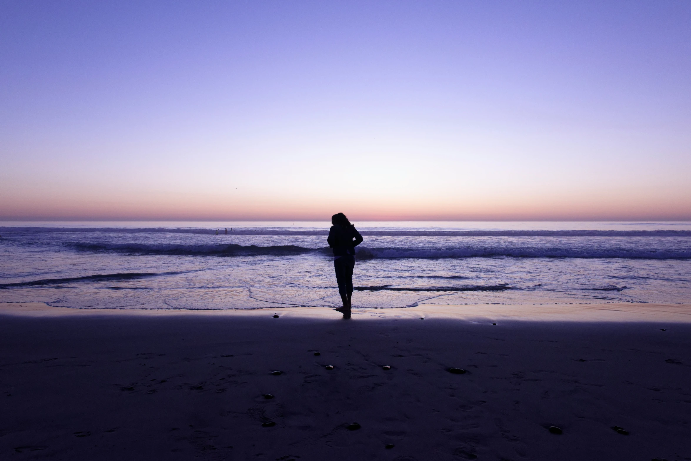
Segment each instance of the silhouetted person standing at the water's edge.
M334 252L334 270L344 310L350 310L352 298L352 270L355 267L355 247L362 236L343 213L331 216L331 229L326 239Z

